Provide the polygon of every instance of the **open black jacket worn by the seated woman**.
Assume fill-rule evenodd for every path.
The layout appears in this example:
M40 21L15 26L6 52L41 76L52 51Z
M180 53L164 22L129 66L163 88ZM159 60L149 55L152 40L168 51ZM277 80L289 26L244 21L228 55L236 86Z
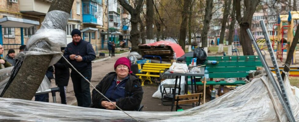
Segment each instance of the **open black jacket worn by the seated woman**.
M114 77L116 77L116 72L108 73L96 86L96 89L103 95L105 95L109 86L112 84ZM116 102L116 105L120 107L120 109L126 111L138 110L143 96L143 90L138 80L138 76L136 76L135 74L129 74L129 79L126 82L125 91L126 97L120 98ZM92 104L90 105L90 107L105 109L103 106L101 106L101 102L103 100L108 101L95 89L92 90Z

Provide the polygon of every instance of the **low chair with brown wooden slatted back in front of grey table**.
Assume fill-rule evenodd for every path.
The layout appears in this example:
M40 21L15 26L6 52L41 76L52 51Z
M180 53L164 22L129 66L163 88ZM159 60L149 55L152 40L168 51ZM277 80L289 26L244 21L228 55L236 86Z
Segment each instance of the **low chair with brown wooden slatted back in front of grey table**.
M194 103L196 102L196 106L200 105L202 93L188 94L188 95L175 95L175 111L178 111L179 105ZM195 98L195 99L194 99ZM186 100L187 99L187 100Z

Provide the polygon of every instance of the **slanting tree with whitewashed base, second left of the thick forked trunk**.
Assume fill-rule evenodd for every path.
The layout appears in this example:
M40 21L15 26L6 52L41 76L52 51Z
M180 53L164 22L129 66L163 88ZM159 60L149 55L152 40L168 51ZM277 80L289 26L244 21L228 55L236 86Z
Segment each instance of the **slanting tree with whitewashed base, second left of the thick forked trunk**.
M218 53L223 52L223 40L224 40L224 34L226 30L226 22L227 17L230 14L231 9L231 0L224 0L224 11L223 11L223 18L221 21L221 31L220 31L220 39L219 39L219 46L218 46Z

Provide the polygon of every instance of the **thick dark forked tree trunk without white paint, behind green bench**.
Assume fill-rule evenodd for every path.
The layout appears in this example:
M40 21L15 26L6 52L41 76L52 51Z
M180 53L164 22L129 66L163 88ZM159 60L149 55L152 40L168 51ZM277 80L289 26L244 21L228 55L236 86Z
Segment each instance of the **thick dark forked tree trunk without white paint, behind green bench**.
M241 16L241 0L236 0L236 20L240 25L240 44L242 45L243 55L253 55L253 49L251 41L246 32L246 29L250 28L251 21L255 9L259 4L260 0L244 0L244 12L243 17Z

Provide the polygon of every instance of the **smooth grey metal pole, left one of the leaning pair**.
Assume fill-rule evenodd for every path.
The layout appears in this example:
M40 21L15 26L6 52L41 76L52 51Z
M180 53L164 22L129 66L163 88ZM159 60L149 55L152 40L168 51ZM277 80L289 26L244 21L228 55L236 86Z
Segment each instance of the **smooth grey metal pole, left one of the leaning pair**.
M262 55L262 52L260 51L260 48L259 48L258 45L257 45L257 42L256 42L255 38L253 37L253 34L251 33L251 31L250 31L249 29L247 29L246 31L247 31L247 33L248 33L248 35L249 35L250 40L251 40L252 43L253 43L254 48L255 48L256 51L257 51L257 54L258 54L259 57L260 57L261 62L263 63L263 66L264 66L264 68L265 68L265 70L266 70L266 73L267 73L267 75L268 75L268 78L269 78L269 80L271 81L271 83L272 83L272 85L273 85L273 87L274 87L274 90L275 90L276 93L277 93L277 96L278 96L278 98L279 98L279 101L282 103L282 106L283 106L284 110L285 110L286 113L287 113L287 117L289 118L289 121L290 121L290 122L295 122L295 120L292 119L293 116L292 116L292 117L290 116L291 113L289 113L289 112L290 112L290 111L288 110L289 108L286 106L286 102L285 102L285 100L284 100L283 97L282 97L281 91L280 91L279 88L278 88L278 85L277 85L277 83L276 83L276 81L275 81L275 79L274 79L274 77L273 77L273 75L272 75L272 73L271 73L271 71L270 71L270 68L269 68L269 66L268 66L268 64L267 64L267 62L266 62L266 60L264 59L264 56ZM293 120L293 121L292 121L292 120Z

